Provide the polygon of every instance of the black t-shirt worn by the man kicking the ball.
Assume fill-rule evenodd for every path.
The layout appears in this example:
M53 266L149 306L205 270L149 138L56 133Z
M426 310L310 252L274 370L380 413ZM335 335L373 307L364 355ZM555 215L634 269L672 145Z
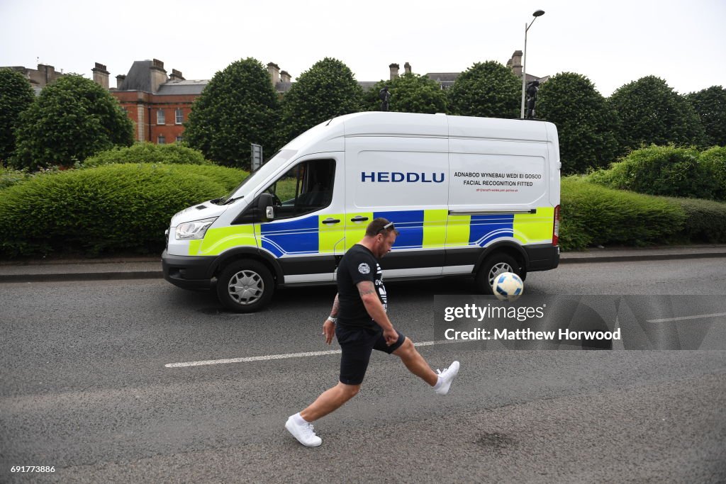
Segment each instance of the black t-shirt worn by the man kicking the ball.
M356 244L343 255L338 265L338 324L346 327L378 327L365 309L356 284L362 281L373 283L383 309L388 306L386 287L383 286L383 271L373 253L363 245Z

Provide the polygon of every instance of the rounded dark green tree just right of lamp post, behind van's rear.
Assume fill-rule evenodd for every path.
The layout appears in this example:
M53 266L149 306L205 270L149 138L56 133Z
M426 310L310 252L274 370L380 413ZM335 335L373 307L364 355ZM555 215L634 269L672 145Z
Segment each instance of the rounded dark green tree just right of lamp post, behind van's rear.
M604 168L618 155L618 117L590 79L559 73L537 93L537 117L555 123L563 175Z

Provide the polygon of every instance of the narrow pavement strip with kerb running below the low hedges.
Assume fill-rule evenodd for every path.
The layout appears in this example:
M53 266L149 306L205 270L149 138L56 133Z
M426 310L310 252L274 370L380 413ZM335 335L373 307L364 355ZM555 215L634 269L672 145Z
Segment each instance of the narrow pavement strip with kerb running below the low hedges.
M726 245L593 248L560 255L560 264L726 258ZM160 279L159 257L0 261L0 283Z

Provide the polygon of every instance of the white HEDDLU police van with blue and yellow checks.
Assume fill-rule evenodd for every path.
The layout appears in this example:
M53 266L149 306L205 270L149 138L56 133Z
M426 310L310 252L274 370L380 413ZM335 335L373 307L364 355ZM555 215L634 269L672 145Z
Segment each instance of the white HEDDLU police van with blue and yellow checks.
M290 141L227 197L171 219L164 277L256 311L277 286L333 283L373 218L400 232L386 279L558 266L557 128L534 120L360 112Z

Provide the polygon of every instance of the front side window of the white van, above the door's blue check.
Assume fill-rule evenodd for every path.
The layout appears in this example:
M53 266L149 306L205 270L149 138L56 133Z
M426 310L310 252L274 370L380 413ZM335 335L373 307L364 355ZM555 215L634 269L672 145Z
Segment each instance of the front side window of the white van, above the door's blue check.
M265 191L277 197L275 219L293 218L330 205L335 160L309 160L290 168Z

